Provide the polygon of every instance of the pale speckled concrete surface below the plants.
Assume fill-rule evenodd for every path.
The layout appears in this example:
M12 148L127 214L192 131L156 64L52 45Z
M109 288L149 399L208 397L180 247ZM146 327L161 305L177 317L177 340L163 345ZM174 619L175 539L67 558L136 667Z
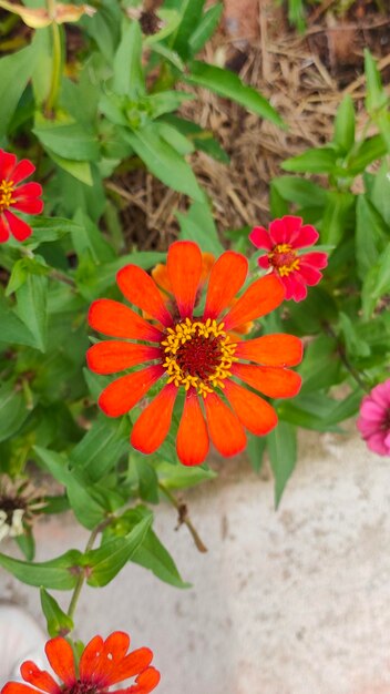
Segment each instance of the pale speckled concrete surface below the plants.
M187 496L207 554L186 528L175 532L170 508L157 511L194 588L130 564L109 586L84 590L79 636L124 629L150 645L158 694L390 694L389 481L390 460L355 433L306 435L276 513L271 481L225 461L217 483ZM85 542L58 520L37 535L47 558ZM40 614L33 589L3 572L0 585Z

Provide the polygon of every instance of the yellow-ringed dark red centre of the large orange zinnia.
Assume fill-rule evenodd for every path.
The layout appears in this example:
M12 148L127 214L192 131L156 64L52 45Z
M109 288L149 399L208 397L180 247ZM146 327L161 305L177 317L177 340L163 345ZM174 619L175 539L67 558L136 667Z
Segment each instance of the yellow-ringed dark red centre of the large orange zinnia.
M193 386L204 397L214 388L225 387L225 378L232 376L232 364L237 361L234 356L237 345L230 341L224 324L211 318L205 323L186 318L167 328L162 345L168 384L184 386L186 390Z

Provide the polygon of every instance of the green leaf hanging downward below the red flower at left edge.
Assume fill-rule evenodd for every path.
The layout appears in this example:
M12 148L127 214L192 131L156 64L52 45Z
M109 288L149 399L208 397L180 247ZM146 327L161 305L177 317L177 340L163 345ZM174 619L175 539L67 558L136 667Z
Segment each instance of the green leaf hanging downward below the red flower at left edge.
M29 273L16 292L17 313L34 337L35 347L45 351L48 336L48 278Z

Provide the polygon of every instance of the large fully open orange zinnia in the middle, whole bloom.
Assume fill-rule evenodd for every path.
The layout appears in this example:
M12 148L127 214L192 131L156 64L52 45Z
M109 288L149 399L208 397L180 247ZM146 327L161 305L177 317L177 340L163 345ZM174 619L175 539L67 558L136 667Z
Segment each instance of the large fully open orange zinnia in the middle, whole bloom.
M286 368L299 364L301 343L290 335L266 335L242 341L233 331L279 306L284 287L274 276L256 279L234 303L245 283L247 259L227 251L215 262L203 314L194 315L202 279L201 249L192 242L176 242L168 251L167 272L175 310L171 312L152 277L136 265L116 275L125 298L154 318L146 320L112 299L98 299L90 308L92 328L123 341L107 340L88 351L88 365L98 374L114 374L151 364L110 384L99 405L110 417L129 412L163 380L160 394L133 427L131 443L152 453L168 433L177 392L185 390L176 450L184 465L202 463L209 438L223 456L246 446L244 428L257 436L277 423L274 408L239 385L239 379L273 398L297 395L300 377ZM233 306L232 306L233 304Z

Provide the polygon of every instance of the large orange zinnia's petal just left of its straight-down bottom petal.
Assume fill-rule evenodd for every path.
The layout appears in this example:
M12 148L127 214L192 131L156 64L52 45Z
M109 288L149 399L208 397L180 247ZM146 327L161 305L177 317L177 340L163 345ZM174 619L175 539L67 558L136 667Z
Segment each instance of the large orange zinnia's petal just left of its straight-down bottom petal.
M176 395L176 386L167 384L141 412L130 437L130 442L136 450L153 453L160 448L170 431Z

